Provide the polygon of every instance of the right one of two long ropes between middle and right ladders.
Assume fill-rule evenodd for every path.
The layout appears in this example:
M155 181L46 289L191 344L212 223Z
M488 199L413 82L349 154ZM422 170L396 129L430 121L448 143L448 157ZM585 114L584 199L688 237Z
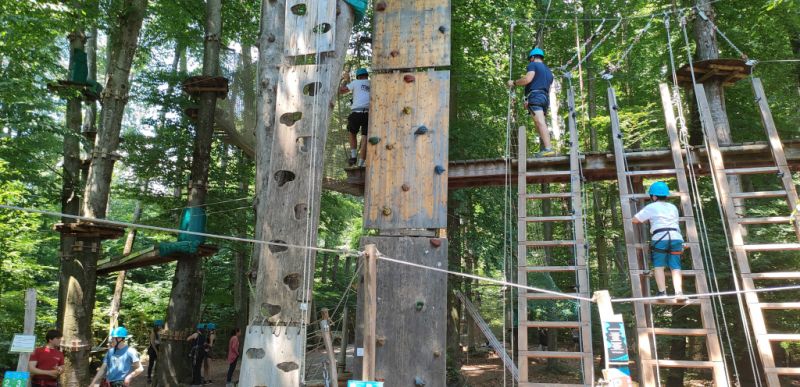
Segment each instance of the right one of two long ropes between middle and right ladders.
M693 90L696 90L696 89L694 89L694 87L697 86L697 79L696 79L695 74L694 74L694 63L692 61L691 45L689 44L689 34L687 32L687 29L686 29L686 16L683 15L683 13L680 13L679 15L680 15L680 18L681 18L681 29L682 29L682 33L683 33L684 45L686 47L686 58L687 58L687 61L689 63L689 72L690 72L691 77L692 77L692 86L693 86ZM716 130L716 128L707 128L707 127L705 127L705 122L702 119L700 120L700 126L704 131ZM705 143L706 149L709 149L709 147L708 147L708 138L706 136L703 136L703 141ZM708 153L707 156L708 156L709 165L712 165L711 164L712 163L711 152L707 152L707 153ZM720 195L720 187L718 186L716 179L711 179L711 182L712 182L713 187L714 187L714 193L715 193L716 197L719 198L720 197L719 196ZM717 209L718 209L719 213L723 214L724 212L723 212L723 209L722 209L722 204L720 203L719 200L717 200L716 202L717 202ZM728 233L728 225L727 225L727 223L725 222L724 219L722 219L720 223L722 224L722 230L723 230L723 233L725 234L725 244L726 244L726 246L731 246L731 240L730 240L730 236L729 236L729 233ZM729 248L728 249L728 260L729 260L729 263L731 265L731 273L732 273L732 278L731 279L733 280L734 287L735 287L736 291L738 292L738 291L741 290L741 287L740 287L740 284L739 284L739 275L738 275L738 272L736 270L736 265L734 263L733 253L731 251L732 251L732 249ZM753 339L752 339L751 334L750 334L750 323L747 320L747 313L746 313L746 310L745 310L744 300L742 299L742 294L741 293L737 293L737 301L739 303L739 314L740 314L740 316L742 318L742 325L744 326L743 330L744 330L745 340L747 342L747 352L748 352L748 356L750 358L750 365L751 365L751 368L753 370L754 380L755 380L756 386L761 386L761 372L759 371L758 366L757 366L758 361L756 359L755 351L753 350Z

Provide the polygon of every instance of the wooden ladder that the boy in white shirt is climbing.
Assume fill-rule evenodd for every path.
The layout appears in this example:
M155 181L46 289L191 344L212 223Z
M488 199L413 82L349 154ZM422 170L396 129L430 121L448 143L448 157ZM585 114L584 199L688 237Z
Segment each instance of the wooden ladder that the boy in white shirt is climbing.
M686 242L691 257L690 270L681 270L684 278L693 277L697 293L708 293L705 268L700 248L700 239L697 225L692 210L689 183L686 179L686 169L683 161L678 130L675 124L675 113L672 108L669 87L660 85L661 103L664 106L667 135L669 136L670 149L674 168L667 170L641 170L629 171L626 166L625 147L623 135L620 130L617 97L613 87L608 88L608 104L611 116L611 130L614 143L614 156L617 166L617 180L619 182L619 197L622 208L623 226L627 246L628 266L630 270L631 288L633 297L648 297L650 294L650 272L647 270L646 257L649 248L650 235L643 232L641 227L634 227L631 223L636 214L636 208L643 204L649 197L646 193L636 193L635 187L630 183L631 177L644 178L654 176L670 176L677 180L678 191L671 194L680 199L679 210L682 213L681 222L684 224ZM667 277L669 282L669 277ZM652 319L652 306L658 305L699 305L700 328L669 328L655 327ZM639 348L639 369L644 386L656 386L656 372L658 367L669 368L707 368L711 369L714 386L728 386L729 380L725 369L725 361L720 347L719 335L716 330L714 309L711 299L701 297L693 298L678 304L675 300L643 301L633 303L636 318L636 338ZM681 360L660 359L656 348L657 336L702 336L705 337L707 360Z

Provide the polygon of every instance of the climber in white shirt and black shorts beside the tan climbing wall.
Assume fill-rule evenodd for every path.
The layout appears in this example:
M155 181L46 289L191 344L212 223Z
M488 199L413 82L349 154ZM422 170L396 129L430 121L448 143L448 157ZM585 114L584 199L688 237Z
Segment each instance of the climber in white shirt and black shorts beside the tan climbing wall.
M356 70L356 80L350 82L350 74L346 74L347 82L339 88L339 94L353 93L353 102L350 105L350 115L347 116L347 131L350 132L350 159L348 164L363 167L367 158L367 146L364 140L369 129L369 71L365 68ZM358 132L361 132L361 147L358 145ZM358 159L356 159L358 156Z

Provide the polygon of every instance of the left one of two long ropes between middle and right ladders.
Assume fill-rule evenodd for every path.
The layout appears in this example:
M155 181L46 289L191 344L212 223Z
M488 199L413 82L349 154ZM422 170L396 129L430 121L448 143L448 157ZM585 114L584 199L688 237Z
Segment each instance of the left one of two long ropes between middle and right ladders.
M698 215L697 216L698 226L699 226L698 228L700 229L700 236L701 236L701 244L700 244L701 256L703 260L706 262L706 265L710 268L710 272L706 273L706 279L711 284L712 291L719 291L719 281L717 279L716 265L714 263L714 260L711 258L712 257L711 244L710 244L710 238L708 237L708 229L706 225L705 213L703 211L702 197L700 196L700 188L697 182L697 176L695 174L694 168L691 167L692 165L694 165L694 157L692 156L692 152L689 151L691 149L691 145L689 144L688 140L689 131L686 125L686 119L683 113L683 102L681 101L681 96L679 92L677 66L675 65L675 56L672 50L672 34L670 28L670 18L669 14L667 13L664 14L664 26L667 32L667 48L669 53L670 70L672 75L672 99L673 99L672 103L673 105L676 106L678 110L678 122L680 124L679 139L681 141L682 146L685 149L687 149L687 152L685 152L686 155L685 157L686 157L686 165L689 166L688 168L689 189L691 191L690 194L692 196L692 200L690 201L692 203L694 211ZM718 309L722 317L722 324L720 324L717 318L714 318L714 324L717 327L717 332L725 333L724 334L725 341L727 342L729 354L733 361L734 376L736 378L737 383L741 385L741 381L739 378L739 370L736 365L735 359L733 359L734 355L733 343L731 340L730 332L728 330L728 321L727 321L727 316L725 315L725 305L722 302L721 297L711 298L711 300L714 304L715 310ZM720 329L720 326L722 329ZM722 341L722 337L720 337L720 341ZM725 343L720 342L722 348L725 348L724 344ZM725 366L727 371L729 367L727 362L723 362L723 365Z

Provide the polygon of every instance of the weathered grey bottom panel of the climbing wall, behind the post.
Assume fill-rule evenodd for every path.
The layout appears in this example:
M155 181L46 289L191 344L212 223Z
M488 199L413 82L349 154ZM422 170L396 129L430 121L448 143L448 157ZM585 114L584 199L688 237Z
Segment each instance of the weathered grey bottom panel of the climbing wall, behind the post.
M432 267L447 267L447 240L438 247L425 237L367 237L382 254ZM447 352L447 275L378 261L378 313L375 378L387 386L444 387ZM363 282L360 288L363 287ZM359 310L363 310L359 289ZM359 319L363 327L363 319ZM356 327L356 347L363 347ZM353 375L361 375L361 358Z

